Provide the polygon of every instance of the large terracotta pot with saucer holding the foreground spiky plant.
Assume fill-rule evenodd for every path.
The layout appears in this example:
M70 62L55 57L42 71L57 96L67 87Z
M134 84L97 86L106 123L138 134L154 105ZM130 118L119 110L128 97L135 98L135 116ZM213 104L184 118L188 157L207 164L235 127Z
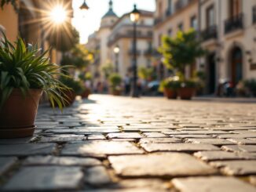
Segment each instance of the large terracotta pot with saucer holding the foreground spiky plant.
M13 89L0 109L0 138L20 138L34 134L41 96L41 89L30 89L26 96L22 95L20 89Z

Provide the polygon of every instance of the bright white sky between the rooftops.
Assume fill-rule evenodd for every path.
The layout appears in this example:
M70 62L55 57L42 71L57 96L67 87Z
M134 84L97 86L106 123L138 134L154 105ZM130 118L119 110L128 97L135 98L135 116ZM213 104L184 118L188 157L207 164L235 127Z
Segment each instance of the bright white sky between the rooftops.
M79 9L82 2L73 0L73 25L80 33L80 42L86 43L88 36L100 27L101 17L108 11L109 0L86 0L90 9L85 13ZM113 0L113 9L118 16L122 16L132 11L134 3L138 9L155 10L155 0Z

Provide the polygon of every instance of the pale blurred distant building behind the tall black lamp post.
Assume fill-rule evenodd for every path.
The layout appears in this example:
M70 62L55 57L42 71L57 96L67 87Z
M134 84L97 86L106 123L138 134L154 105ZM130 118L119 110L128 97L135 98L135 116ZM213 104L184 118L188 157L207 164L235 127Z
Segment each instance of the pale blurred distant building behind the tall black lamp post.
M151 67L153 13L140 12L141 17L137 22L137 67ZM115 47L119 47L118 54L114 53ZM133 23L130 13L124 14L112 27L108 37L108 58L123 78L130 74L133 63Z

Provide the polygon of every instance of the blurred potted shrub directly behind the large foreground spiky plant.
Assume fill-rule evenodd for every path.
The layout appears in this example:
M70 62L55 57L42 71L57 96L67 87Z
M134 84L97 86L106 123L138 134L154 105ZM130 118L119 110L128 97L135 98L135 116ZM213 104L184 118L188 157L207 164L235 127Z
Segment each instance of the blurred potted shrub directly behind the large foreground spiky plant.
M68 76L60 77L60 82L64 85L67 85L69 90L64 91L64 95L66 96L66 100L64 100L65 107L71 106L75 102L75 97L80 96L82 92L84 92L85 88L82 85L82 82L79 80L75 80L74 78Z

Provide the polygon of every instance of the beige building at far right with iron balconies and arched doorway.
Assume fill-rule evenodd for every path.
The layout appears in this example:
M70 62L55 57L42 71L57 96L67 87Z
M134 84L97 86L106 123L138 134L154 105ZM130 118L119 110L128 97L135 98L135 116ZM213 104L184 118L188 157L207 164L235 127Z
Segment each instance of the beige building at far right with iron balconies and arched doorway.
M216 92L220 82L236 85L256 78L256 1L201 0L200 30L207 74L207 93Z

